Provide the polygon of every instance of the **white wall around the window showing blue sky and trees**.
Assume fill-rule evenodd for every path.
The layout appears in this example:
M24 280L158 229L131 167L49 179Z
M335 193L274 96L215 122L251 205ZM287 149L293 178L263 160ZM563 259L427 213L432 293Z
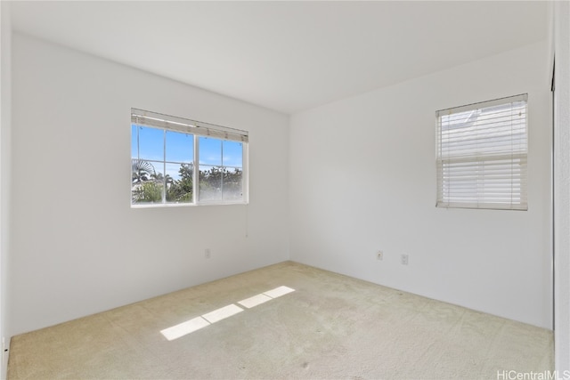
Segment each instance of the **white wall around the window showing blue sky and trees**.
M17 33L12 60L12 335L289 259L289 117ZM131 209L131 107L248 130L249 206Z

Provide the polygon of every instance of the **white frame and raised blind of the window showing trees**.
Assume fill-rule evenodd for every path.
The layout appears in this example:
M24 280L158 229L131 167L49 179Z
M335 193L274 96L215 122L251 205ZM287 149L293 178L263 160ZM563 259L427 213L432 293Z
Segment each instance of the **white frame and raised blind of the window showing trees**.
M230 128L222 125L214 125L211 123L200 122L196 120L186 119L183 117L174 117L157 112L152 112L144 109L131 109L131 126L140 125L160 129L163 131L172 131L179 133L188 133L193 135L193 173L192 173L192 202L181 203L167 203L163 196L161 202L155 203L133 203L133 182L131 182L131 207L144 208L144 207L170 207L170 206L203 206L203 205L247 205L248 198L248 131ZM237 200L200 200L199 199L199 138L210 137L221 141L239 141L242 144L242 197ZM166 141L165 141L166 145ZM223 145L222 145L223 146ZM222 148L223 149L223 148ZM133 152L131 152L131 162ZM222 150L223 155L223 150ZM222 156L223 157L223 156ZM140 158L137 158L140 159ZM170 161L164 161L166 164ZM211 165L203 165L211 166ZM222 160L222 166L224 160ZM164 174L166 175L166 173Z

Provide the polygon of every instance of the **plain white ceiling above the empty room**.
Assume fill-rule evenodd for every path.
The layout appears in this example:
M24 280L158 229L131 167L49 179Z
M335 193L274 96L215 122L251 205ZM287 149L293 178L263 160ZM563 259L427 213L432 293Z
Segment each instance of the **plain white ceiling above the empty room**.
M283 113L546 38L547 2L14 2L16 31Z

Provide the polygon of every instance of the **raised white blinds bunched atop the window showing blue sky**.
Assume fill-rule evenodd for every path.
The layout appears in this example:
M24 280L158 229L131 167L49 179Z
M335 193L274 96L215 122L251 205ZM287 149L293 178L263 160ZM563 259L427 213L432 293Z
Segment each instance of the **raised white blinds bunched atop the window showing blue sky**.
M210 136L223 140L248 142L247 131L190 120L183 117L163 115L143 109L131 109L131 122L135 125L154 126L169 131Z

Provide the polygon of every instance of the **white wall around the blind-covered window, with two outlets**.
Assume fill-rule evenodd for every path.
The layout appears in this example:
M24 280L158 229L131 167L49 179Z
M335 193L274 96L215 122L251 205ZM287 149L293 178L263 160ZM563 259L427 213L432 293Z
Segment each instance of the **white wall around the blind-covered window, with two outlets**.
M532 44L293 115L291 259L551 327L547 57ZM436 109L517 93L528 211L436 208Z

